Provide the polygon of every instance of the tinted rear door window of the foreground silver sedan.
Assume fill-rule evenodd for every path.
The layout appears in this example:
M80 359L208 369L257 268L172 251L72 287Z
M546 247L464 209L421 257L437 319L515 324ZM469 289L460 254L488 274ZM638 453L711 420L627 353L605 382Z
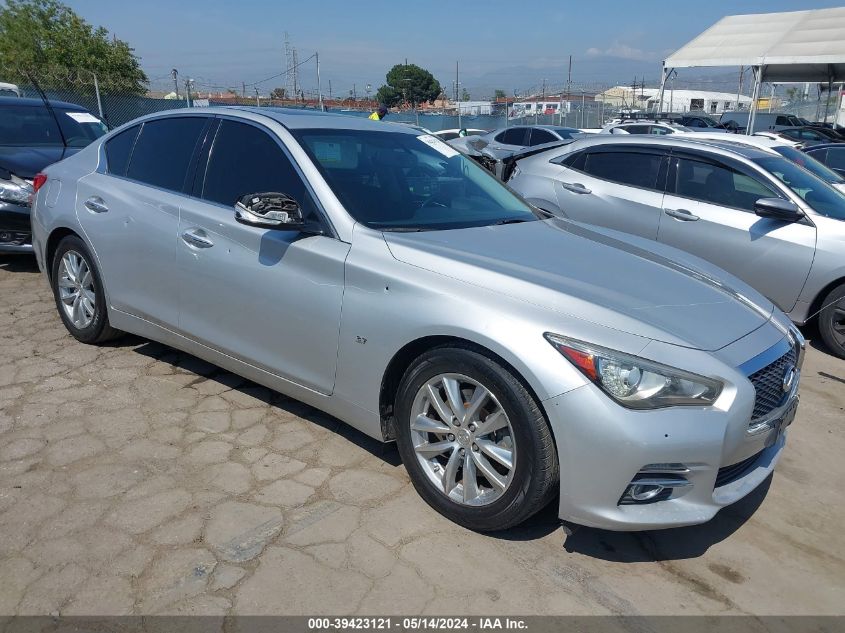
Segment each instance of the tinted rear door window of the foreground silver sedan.
M135 142L127 177L171 191L182 191L191 155L205 127L204 117L147 121Z

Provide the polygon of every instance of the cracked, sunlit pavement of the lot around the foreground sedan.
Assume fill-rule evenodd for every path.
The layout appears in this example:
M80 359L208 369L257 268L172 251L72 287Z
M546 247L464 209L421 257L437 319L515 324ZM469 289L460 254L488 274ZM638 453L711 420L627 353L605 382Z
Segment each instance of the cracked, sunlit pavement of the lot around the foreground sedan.
M811 343L773 478L706 525L481 535L398 454L0 257L0 614L845 614L845 361Z

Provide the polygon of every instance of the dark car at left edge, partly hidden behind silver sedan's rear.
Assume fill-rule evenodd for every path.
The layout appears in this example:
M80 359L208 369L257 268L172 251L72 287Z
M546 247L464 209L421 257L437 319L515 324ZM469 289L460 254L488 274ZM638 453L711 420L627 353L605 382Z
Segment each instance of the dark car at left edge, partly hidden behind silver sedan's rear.
M85 108L0 97L0 253L31 253L29 206L35 175L106 133ZM58 123L57 123L58 121Z

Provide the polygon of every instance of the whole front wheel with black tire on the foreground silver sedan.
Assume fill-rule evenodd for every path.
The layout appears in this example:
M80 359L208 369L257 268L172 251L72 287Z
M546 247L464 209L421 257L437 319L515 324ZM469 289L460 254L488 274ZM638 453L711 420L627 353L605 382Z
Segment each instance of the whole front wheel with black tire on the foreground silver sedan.
M558 487L558 460L539 405L506 368L464 347L440 347L405 372L397 444L420 496L481 532L517 525Z

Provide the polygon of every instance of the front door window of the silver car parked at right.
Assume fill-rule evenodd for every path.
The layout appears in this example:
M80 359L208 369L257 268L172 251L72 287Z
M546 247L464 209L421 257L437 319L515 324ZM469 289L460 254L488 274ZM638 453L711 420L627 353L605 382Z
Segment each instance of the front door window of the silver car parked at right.
M760 198L783 197L756 178L728 166L690 158L676 159L674 183L668 189L685 198L752 212Z

